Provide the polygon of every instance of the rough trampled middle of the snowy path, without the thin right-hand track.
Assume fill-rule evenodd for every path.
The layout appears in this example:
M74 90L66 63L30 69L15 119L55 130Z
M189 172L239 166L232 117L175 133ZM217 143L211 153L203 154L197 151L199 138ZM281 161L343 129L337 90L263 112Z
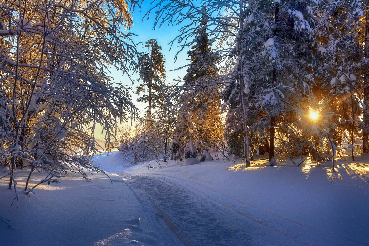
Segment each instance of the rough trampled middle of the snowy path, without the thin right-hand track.
M189 189L152 176L124 179L140 198L148 199L162 214L169 228L185 245L305 245L250 218L239 216Z

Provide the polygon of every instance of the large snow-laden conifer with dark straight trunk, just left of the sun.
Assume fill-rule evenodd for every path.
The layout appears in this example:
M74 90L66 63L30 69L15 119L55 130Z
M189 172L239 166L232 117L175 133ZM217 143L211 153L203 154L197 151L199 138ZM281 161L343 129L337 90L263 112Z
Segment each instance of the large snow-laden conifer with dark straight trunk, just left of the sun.
M252 55L245 64L252 86L252 100L259 118L254 132L264 139L269 121L269 161L274 156L276 130L285 144L291 132L289 127L298 124L304 94L311 89L307 62L314 64L310 50L313 42L313 1L254 1L246 18L250 35L245 46ZM251 36L251 37L249 37ZM253 88L254 87L254 88ZM301 93L302 92L302 93ZM292 117L293 116L293 117ZM279 124L280 122L280 124ZM287 123L288 122L288 123ZM286 136L282 136L286 135Z

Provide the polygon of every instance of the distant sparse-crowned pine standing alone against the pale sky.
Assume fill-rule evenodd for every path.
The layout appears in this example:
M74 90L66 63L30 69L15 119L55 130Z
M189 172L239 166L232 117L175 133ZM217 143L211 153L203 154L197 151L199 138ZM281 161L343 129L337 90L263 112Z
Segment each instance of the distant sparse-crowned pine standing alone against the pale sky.
M145 47L149 51L141 58L140 78L143 83L137 86L136 93L137 95L145 93L147 87L148 94L140 96L138 101L148 103L147 115L151 116L152 109L160 105L162 100L161 89L157 85L165 80L165 59L160 52L162 48L155 39L148 40Z

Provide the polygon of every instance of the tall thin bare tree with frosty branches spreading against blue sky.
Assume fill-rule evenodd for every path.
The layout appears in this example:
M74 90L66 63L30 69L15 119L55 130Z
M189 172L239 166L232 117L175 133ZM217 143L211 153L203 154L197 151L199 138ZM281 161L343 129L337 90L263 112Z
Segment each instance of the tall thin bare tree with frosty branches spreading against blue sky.
M198 4L198 5L197 5ZM156 11L156 22L155 25L162 25L168 21L169 24L180 25L180 35L174 41L180 43L181 50L187 47L196 45L196 40L193 37L196 36L197 30L201 28L201 21L203 18L207 18L208 23L206 26L206 33L208 38L218 42L222 42L221 48L213 51L213 56L218 58L220 63L225 62L229 57L238 57L242 60L242 52L234 48L233 41L242 35L243 23L244 23L244 12L248 9L247 1L200 1L200 2L181 2L181 1L157 1L156 5L151 11ZM203 6L206 6L206 11ZM150 11L150 12L151 12ZM150 13L149 12L149 13ZM148 13L148 14L149 14ZM191 18L187 18L187 17ZM231 41L232 40L232 41ZM242 40L242 37L241 37ZM173 43L172 42L172 43ZM222 69L223 70L223 69ZM213 82L207 83L207 86L211 84L224 85L225 79L228 78L228 72L232 69L224 69L224 74L221 73L217 79ZM222 72L223 72L222 71ZM241 76L242 69L236 71L237 78L243 80ZM209 81L209 80L208 80ZM208 82L207 81L207 82ZM238 83L239 89L243 91L244 82ZM246 115L247 110L243 95L241 93L240 105L242 105L242 124L244 125L244 131L246 134L244 140L244 152L248 153L249 141L248 141L248 127ZM246 154L246 162L249 165L249 155Z

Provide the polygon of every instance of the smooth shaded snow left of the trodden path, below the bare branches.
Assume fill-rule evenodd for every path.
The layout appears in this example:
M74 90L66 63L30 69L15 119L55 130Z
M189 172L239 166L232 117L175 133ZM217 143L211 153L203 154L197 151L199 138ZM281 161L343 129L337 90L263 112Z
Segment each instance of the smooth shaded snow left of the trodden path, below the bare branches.
M63 178L58 185L39 185L28 197L23 191L28 171L17 171L18 208L10 206L14 190L8 189L8 179L0 180L0 216L11 225L0 221L3 245L180 243L154 212L151 215L142 207L118 174L110 174L113 183L103 174L91 175L90 182L82 177ZM45 175L32 176L31 184L41 177Z

